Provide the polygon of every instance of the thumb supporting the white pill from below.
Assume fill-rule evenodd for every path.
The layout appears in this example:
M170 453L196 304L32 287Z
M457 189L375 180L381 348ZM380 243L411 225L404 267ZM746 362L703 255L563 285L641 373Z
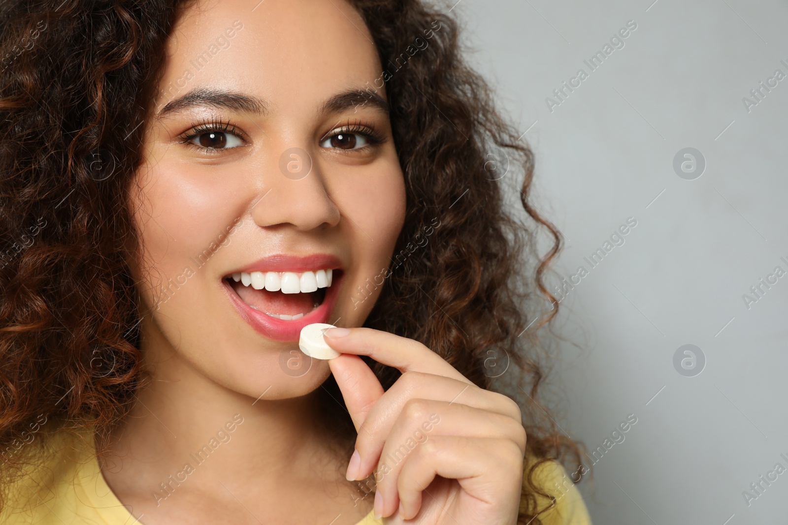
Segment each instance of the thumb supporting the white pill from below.
M329 360L329 368L339 385L345 406L358 432L375 402L383 395L383 386L361 357L343 353Z

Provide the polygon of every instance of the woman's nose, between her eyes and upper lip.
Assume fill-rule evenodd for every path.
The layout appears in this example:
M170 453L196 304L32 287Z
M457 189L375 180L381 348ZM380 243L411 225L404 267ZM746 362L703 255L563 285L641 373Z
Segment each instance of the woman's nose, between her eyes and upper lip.
M336 226L340 209L329 196L319 162L307 150L291 147L266 165L268 190L252 209L260 227L290 224L299 231Z

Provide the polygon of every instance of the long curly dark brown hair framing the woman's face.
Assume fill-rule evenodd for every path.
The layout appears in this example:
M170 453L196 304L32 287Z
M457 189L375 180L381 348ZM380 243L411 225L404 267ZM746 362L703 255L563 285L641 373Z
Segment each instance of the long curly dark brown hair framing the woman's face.
M515 367L496 387L505 390L506 379L507 394L519 401L538 460L525 475L519 523L540 523L545 509L536 508L536 495L551 496L533 482L534 469L551 459L581 463L578 444L537 403L545 360L535 333L558 312L543 277L562 238L530 205L533 153L463 61L455 20L421 0L350 2L381 65L398 66L384 80L407 187L395 249L405 257L392 264L365 326L424 343L489 390L497 375L490 357L511 360ZM0 447L12 467L24 454L8 452L28 441L42 416L52 420L50 431L91 427L106 436L144 384L138 326L145 312L128 266L138 260L139 238L127 191L143 161L140 124L151 114L165 41L190 4L0 5ZM429 45L405 54L429 28ZM501 155L522 169L522 187L514 188L522 219L504 202L512 177L491 169ZM429 248L412 250L436 218ZM541 229L552 238L544 256L536 246ZM541 310L545 299L552 311L525 330L536 318L525 310ZM399 377L365 359L385 388ZM333 377L322 390L318 412L350 451L355 428L336 402ZM4 469L0 482L14 470Z

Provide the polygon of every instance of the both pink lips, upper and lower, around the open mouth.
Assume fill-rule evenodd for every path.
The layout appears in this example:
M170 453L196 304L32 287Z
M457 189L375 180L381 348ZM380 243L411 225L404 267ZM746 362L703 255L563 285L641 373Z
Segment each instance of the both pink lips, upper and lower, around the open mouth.
M327 254L310 255L308 257L280 255L267 257L236 270L236 272L307 272L321 268L342 268L342 264L337 257ZM222 279L221 284L241 318L250 324L258 334L277 341L298 341L301 329L307 324L329 322L329 316L339 297L340 283L344 278L344 272L337 273L338 275L333 276L331 286L325 290L325 299L322 304L300 319L290 321L277 319L251 308L251 306L241 300L226 279Z

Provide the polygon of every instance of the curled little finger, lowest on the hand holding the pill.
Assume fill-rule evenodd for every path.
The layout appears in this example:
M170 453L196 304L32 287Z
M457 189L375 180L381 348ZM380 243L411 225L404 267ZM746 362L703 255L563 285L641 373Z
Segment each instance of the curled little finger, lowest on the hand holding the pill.
M515 443L500 438L436 436L417 450L405 461L397 479L399 502L384 499L381 516L396 512L399 503L404 519L416 516L422 508L422 498L431 498L428 487L437 475L456 479L466 493L458 497L473 498L474 505L481 505L477 511L481 516L516 512L522 487L522 457ZM462 503L458 501L454 507L462 508ZM504 508L507 506L511 509Z

